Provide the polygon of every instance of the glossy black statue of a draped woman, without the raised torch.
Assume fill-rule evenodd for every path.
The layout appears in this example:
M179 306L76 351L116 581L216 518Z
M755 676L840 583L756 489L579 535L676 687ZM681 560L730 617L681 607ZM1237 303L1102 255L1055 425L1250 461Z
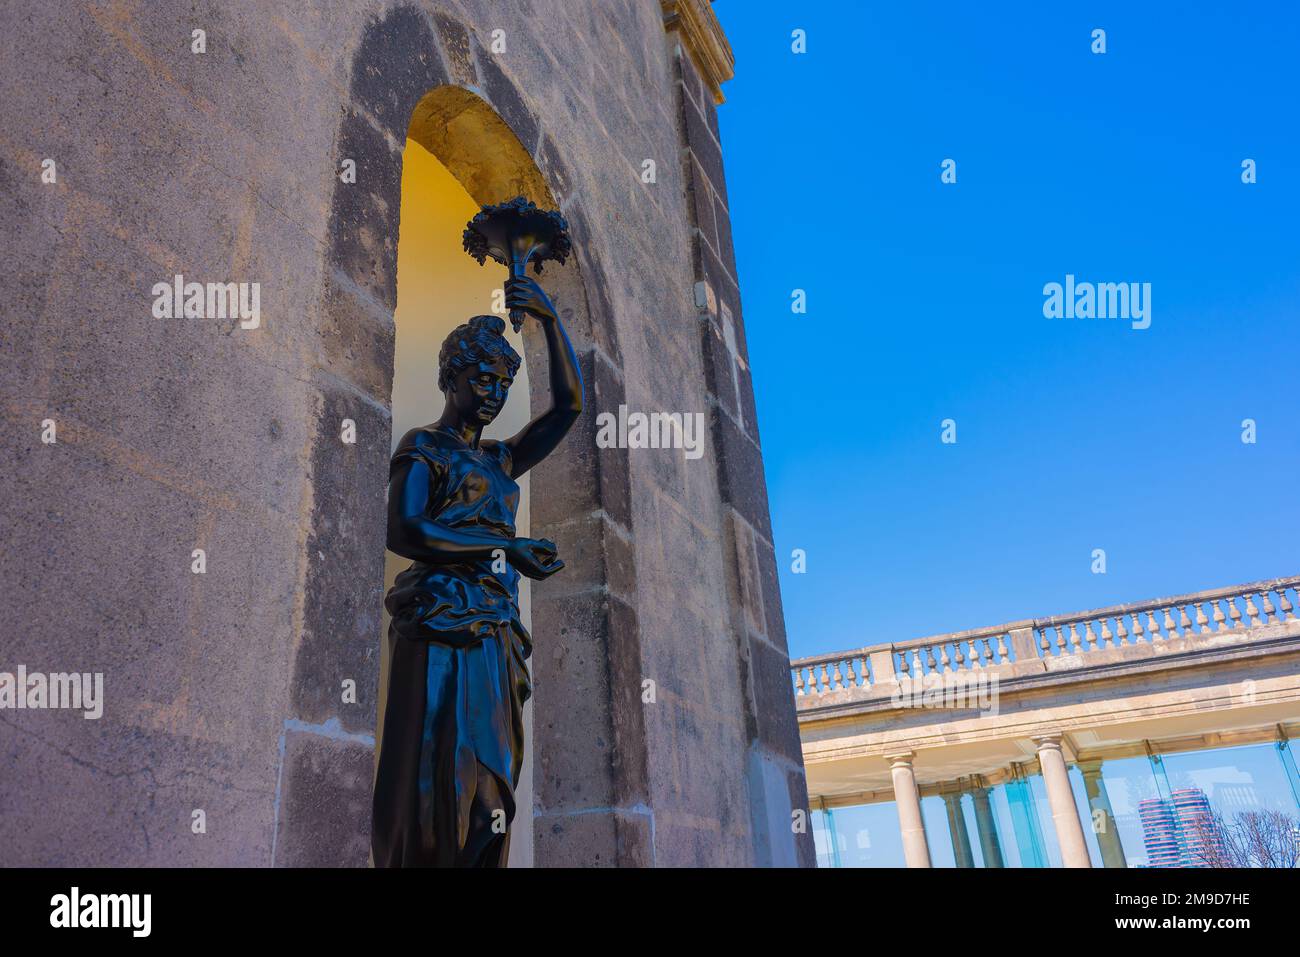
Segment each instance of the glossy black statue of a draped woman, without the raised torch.
M520 358L500 319L474 316L438 356L442 417L408 432L393 454L389 549L412 564L385 602L394 645L374 783L377 867L504 867L510 849L532 693L519 575L564 567L554 544L515 536L515 480L581 415L582 376L533 280L511 278L506 304L545 329L550 411L514 438L480 438Z

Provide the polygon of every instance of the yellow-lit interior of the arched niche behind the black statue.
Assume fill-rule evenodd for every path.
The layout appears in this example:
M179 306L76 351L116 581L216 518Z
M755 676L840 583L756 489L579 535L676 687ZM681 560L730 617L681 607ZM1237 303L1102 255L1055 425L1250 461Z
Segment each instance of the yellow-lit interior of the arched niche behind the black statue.
M556 205L542 174L514 131L474 94L442 86L416 105L402 157L400 230L396 255L396 308L394 313L394 376L391 393L393 445L410 429L436 421L443 410L437 385L438 350L446 335L469 316L494 312L494 293L506 277L491 261L480 267L462 248L465 222L485 203L500 203L525 195L540 205ZM556 307L572 315L585 296L577 265L549 265L545 285ZM499 298L498 298L499 304ZM498 315L503 311L495 309ZM507 324L507 337L524 356L502 415L485 432L486 438L504 438L519 432L550 402L546 386L545 343L534 322L516 334ZM530 499L533 477L520 478L516 531L532 533ZM395 575L410 564L387 553L385 593ZM520 583L520 611L532 629L530 583ZM386 706L390 638L384 616L384 645L378 696L376 754L382 745L382 715ZM541 698L541 701L538 701ZM543 689L525 709L528 748L516 789L517 811L512 826L511 866L533 861L533 715L547 707Z

